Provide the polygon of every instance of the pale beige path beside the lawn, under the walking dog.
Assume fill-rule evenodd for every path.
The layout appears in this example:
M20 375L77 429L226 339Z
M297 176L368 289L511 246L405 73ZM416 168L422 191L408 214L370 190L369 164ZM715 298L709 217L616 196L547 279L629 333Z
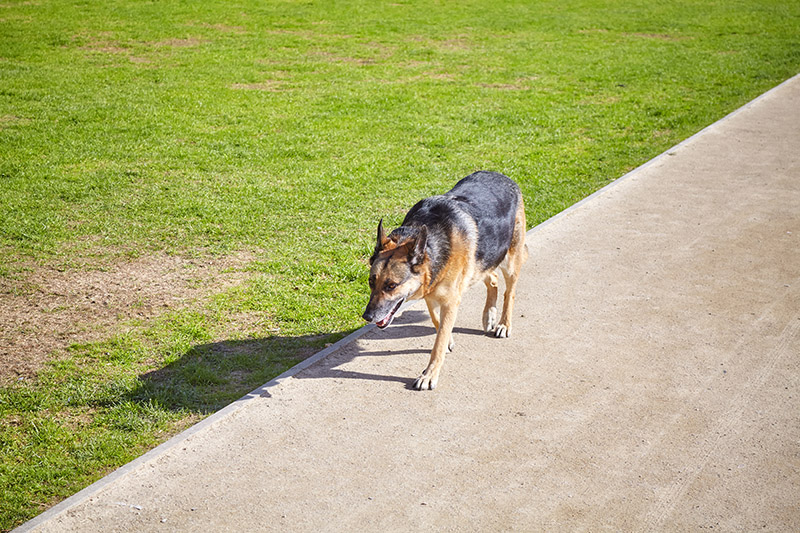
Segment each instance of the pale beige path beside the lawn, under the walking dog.
M800 77L529 247L435 391L417 305L21 529L800 531Z

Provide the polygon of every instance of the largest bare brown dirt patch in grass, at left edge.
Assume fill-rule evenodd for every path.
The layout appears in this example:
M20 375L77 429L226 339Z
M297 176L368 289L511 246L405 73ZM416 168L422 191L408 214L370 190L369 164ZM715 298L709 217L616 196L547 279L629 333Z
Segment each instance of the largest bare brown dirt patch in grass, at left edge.
M0 278L0 384L27 379L71 344L106 338L240 284L255 254L168 255L117 262L104 270L34 267Z

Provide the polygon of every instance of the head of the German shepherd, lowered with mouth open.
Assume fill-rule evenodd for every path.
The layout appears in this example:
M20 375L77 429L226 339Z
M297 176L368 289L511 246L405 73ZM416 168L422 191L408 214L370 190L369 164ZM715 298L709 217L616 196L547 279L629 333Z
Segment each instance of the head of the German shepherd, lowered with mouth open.
M401 226L387 237L383 220L378 223L378 241L369 260L371 293L364 320L385 328L391 324L403 302L420 290L425 281L423 267L427 261L427 240L425 226Z

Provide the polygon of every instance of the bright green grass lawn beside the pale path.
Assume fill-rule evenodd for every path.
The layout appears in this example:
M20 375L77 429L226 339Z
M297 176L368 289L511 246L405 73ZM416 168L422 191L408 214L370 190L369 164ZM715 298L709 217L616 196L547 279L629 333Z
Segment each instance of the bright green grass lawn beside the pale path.
M243 259L0 370L0 529L359 327L379 218L491 169L535 225L798 71L781 0L2 0L0 342L49 273Z

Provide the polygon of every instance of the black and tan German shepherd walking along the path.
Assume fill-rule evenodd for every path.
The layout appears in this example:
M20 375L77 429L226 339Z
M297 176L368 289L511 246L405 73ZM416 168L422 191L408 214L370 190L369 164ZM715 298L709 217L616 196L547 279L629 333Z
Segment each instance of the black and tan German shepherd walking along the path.
M495 337L508 337L514 290L525 259L525 207L519 187L503 174L475 172L449 192L421 200L388 236L381 219L370 258L371 294L364 319L385 328L403 302L425 300L436 341L414 388L433 390L444 354L454 347L453 325L464 290L483 280L483 329ZM499 321L498 267L506 282Z

